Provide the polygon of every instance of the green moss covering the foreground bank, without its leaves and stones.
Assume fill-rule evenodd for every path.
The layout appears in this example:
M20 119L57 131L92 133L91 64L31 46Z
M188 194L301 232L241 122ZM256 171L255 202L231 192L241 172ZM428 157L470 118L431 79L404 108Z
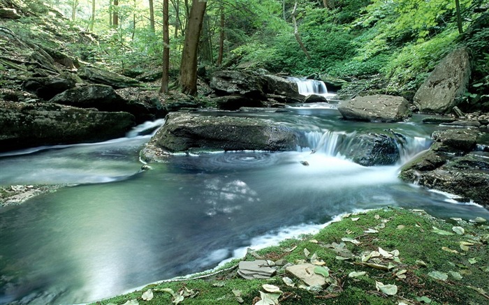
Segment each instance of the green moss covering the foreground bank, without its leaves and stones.
M452 230L454 225L464 228L464 235L455 234ZM453 234L440 235L441 231L437 232L434 227ZM378 232L365 232L369 229ZM97 304L124 304L129 299L138 299L140 304L171 304L173 301L168 292L154 292L154 299L143 302L142 294L148 288L156 291L170 288L177 293L186 289L198 292L194 297L186 297L183 304L240 304L233 294L233 290L240 290L242 304L253 304L265 283L277 285L284 292L280 304L397 304L400 300L397 296L411 303L416 303L418 297L428 297L431 304L486 304L488 300L483 291L489 290L489 257L484 236L488 232L484 225L453 220L449 223L432 218L424 211L390 208L368 211L346 216L323 228L317 235L286 239L279 246L254 253L288 262L307 262L315 254L330 269L330 278L337 281L336 286L331 285L321 292L313 293L298 288L298 285L285 285L282 281L282 276L286 276L284 269L279 269L277 275L268 280L251 281L240 278L233 269L208 278L149 285L141 291ZM344 241L345 248L351 251L353 258L337 260L338 253L333 251L331 244L339 244L345 237L349 238ZM357 244L348 240L355 240ZM472 245L463 250L460 241ZM365 265L361 255L379 251L379 247L385 251L399 251L400 262L388 258L375 261L378 265L391 265L387 270ZM245 260L254 260L254 255L248 253ZM421 260L425 265L419 262ZM223 268L238 262L234 260ZM406 270L405 277L396 275L401 270ZM365 271L365 275L350 278L348 275L352 271ZM448 278L446 281L432 278L429 275L432 271L444 272ZM298 284L297 279L294 281ZM396 285L397 294L388 296L379 292L376 282Z

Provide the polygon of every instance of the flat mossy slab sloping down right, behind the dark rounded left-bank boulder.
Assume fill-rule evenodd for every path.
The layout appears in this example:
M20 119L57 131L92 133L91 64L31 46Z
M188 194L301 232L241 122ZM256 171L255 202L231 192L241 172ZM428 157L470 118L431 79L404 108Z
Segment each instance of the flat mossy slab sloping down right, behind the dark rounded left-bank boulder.
M140 86L140 82L131 77L93 67L78 69L78 75L84 80L89 80L96 84L106 84L114 89Z

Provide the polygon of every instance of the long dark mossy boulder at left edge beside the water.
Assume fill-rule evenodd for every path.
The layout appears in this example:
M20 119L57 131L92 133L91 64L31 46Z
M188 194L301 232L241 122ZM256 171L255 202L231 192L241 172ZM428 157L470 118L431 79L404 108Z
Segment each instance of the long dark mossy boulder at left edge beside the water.
M134 125L126 112L98 112L54 103L0 100L0 149L99 142L122 137Z

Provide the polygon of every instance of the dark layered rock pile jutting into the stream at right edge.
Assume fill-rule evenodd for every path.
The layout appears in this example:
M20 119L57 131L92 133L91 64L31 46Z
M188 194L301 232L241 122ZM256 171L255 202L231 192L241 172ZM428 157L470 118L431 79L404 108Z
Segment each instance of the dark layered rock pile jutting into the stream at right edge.
M489 154L473 152L478 135L471 129L433 133L432 147L404 165L400 178L489 207Z

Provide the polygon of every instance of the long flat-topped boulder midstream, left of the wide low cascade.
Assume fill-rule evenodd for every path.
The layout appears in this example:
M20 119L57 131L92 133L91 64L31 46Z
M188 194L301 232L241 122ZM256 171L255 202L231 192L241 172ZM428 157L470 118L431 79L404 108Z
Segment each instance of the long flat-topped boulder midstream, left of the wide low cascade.
M295 149L298 142L297 133L270 121L174 112L167 115L166 123L148 145L171 152L189 149L284 151Z

